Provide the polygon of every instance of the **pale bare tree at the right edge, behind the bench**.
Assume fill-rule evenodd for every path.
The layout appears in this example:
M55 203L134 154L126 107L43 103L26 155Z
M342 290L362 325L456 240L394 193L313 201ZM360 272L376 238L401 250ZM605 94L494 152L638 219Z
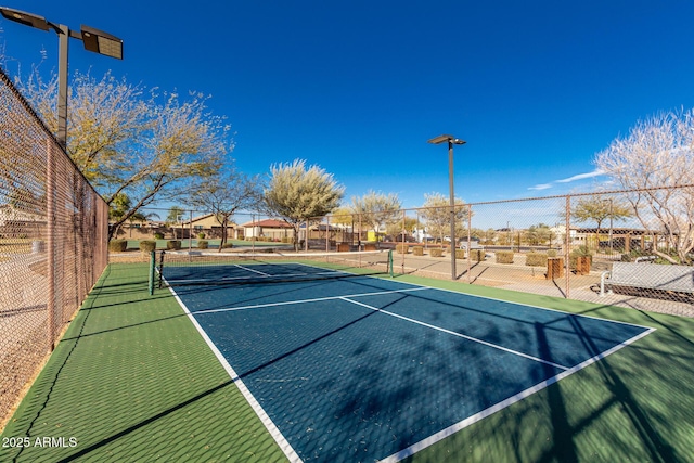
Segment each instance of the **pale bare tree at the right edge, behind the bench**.
M655 236L664 235L677 259L692 263L694 248L694 110L664 113L640 121L625 138L599 153L595 165L621 188L634 215Z

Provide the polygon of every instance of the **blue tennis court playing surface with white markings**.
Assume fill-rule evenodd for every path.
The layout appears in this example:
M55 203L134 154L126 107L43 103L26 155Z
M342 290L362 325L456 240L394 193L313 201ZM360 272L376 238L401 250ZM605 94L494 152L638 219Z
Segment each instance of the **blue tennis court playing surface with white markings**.
M307 269L326 271L247 266ZM652 331L369 276L176 294L290 460L306 462L398 461Z

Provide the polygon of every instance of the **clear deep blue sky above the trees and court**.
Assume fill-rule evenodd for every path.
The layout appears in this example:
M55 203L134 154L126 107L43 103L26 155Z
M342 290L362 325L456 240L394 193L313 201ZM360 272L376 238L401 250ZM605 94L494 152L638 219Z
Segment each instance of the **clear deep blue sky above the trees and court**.
M247 173L294 158L346 187L397 193L406 207L591 190L596 152L639 119L694 106L694 2L0 0L73 29L120 37L125 60L70 40L70 74L211 94L236 132ZM0 41L28 72L54 33L0 20ZM577 179L578 176L578 179ZM570 180L570 181L566 181Z

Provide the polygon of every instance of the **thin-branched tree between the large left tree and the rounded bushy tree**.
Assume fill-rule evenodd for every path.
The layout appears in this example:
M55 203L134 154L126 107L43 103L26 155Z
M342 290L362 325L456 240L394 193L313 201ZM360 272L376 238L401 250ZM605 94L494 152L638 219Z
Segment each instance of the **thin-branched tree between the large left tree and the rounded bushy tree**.
M258 177L248 177L232 168L200 183L189 193L188 202L209 210L221 226L221 252L234 214L255 206L262 196L262 187Z

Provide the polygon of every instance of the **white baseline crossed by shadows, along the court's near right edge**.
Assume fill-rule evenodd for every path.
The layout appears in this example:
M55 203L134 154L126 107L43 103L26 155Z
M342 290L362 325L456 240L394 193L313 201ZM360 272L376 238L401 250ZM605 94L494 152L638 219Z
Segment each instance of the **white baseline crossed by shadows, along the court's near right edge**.
M552 376L549 380L545 380L541 383L536 384L535 386L531 386L518 394L516 394L515 396L509 397L506 400L502 400L499 403L496 403L491 407L489 407L488 409L485 409L483 411L480 411L479 413L476 413L472 416L466 417L463 421L460 421L449 427L447 427L446 429L441 429L436 434L430 435L429 437L420 440L416 443L413 443L412 446L408 447L407 449L402 449L389 456L386 456L383 460L380 460L380 462L383 463L396 463L399 462L401 460L407 459L408 456L412 456L414 453L419 452L420 450L423 450L429 446L433 446L434 443L444 440L445 438L452 436L453 434L458 433L459 430L474 424L477 423L478 421L481 421L484 419L486 419L487 416L490 416L494 413L497 413L498 411L501 411L503 409L505 409L506 407L512 406L513 403L525 399L528 396L534 395L535 393L544 389L545 387L556 383L560 380L565 378L566 376L576 373L579 370L584 369L586 366L597 362L599 360L602 360L603 358L616 352L617 350L627 347L628 345L635 343L637 340L641 339L644 336L647 336L648 334L653 333L655 331L654 327L644 331L643 333L625 340L624 343L620 343L618 345L616 345L615 347L613 347L609 350L605 350L604 352L601 352L599 355L596 355L595 357L592 357L588 360L586 360L584 362L581 362L579 364L577 364L576 366L573 366L566 371L563 371L562 373L557 374L556 376Z

